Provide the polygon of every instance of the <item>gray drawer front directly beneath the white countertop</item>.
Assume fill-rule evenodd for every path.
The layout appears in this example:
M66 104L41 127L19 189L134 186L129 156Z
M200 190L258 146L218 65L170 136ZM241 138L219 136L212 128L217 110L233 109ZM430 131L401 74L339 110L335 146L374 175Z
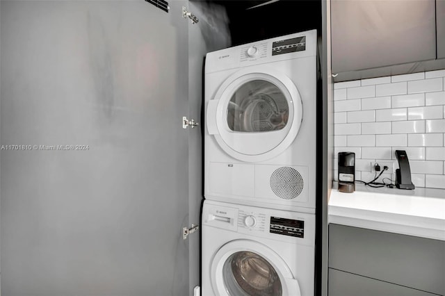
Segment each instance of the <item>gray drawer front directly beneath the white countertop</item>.
M445 242L330 224L329 267L445 295Z

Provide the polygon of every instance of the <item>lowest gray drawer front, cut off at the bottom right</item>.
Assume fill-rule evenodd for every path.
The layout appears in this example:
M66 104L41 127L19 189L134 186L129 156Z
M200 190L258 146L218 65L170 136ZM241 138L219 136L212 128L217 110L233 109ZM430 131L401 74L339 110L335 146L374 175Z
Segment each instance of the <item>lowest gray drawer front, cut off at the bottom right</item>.
M433 296L435 294L426 293L421 290L415 290L404 286L387 283L361 277L357 274L341 272L339 270L329 269L329 296Z

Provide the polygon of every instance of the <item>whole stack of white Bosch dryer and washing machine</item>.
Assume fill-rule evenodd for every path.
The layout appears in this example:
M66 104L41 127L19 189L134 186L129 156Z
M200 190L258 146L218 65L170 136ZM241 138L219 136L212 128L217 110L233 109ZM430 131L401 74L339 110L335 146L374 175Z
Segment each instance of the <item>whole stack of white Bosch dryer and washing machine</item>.
M314 295L316 30L205 65L202 295Z

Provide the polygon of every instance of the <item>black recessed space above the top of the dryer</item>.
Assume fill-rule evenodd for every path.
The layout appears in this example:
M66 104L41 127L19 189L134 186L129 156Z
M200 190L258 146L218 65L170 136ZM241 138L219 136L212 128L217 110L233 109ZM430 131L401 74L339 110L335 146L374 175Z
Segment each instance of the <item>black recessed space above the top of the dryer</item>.
M227 10L232 46L316 28L321 35L321 0L216 0ZM248 9L251 8L251 9Z

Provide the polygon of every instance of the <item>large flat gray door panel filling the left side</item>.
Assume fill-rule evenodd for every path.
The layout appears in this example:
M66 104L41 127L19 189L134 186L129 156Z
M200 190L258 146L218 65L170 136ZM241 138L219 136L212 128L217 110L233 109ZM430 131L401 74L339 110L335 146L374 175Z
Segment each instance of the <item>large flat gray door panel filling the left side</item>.
M188 294L188 1L169 2L1 1L0 141L26 145L1 150L2 295Z

